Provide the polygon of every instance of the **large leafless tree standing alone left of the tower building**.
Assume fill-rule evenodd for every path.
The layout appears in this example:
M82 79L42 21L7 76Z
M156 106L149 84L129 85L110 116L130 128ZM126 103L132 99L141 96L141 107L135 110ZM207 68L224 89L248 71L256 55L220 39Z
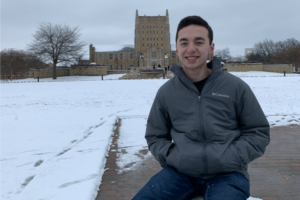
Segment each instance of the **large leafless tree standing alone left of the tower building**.
M35 55L53 62L53 79L56 79L56 65L60 62L76 62L82 55L84 42L79 41L78 27L41 23L33 35L29 50Z

